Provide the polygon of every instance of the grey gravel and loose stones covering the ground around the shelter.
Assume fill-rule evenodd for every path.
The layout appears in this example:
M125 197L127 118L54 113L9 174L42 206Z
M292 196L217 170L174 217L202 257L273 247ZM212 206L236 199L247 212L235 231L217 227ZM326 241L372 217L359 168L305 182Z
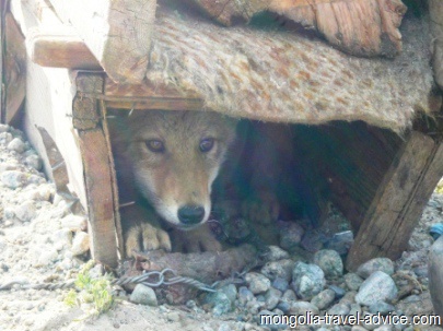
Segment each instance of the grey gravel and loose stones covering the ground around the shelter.
M284 250L272 247L267 263L249 271L243 284L225 285L184 306L159 306L152 292L139 285L132 297L120 293L112 310L92 317L90 304L71 308L63 303L68 289L24 288L72 281L88 260L86 220L71 214L40 170L42 161L23 133L0 125L0 286L14 282L10 289L0 291L0 330L278 330L284 327L258 326L259 315L432 314L427 256L433 241L428 232L443 218L439 193L429 201L409 250L397 261L376 259L355 273L343 272L340 253L349 246L350 233L333 212L317 230L283 224ZM130 302L147 298L151 306ZM296 329L441 330L427 324L364 323Z

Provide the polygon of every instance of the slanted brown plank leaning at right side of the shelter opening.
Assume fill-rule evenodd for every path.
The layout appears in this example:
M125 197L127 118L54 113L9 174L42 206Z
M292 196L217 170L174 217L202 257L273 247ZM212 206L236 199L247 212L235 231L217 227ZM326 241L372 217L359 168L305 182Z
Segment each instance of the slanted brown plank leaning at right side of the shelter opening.
M347 260L348 270L375 257L397 259L443 175L443 145L412 131L386 172Z

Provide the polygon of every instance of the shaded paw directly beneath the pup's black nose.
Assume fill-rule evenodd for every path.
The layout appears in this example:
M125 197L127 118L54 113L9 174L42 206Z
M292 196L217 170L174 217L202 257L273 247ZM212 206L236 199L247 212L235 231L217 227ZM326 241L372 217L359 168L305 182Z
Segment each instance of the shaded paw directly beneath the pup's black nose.
M172 232L173 250L180 252L221 251L221 244L214 238L208 224L196 229Z

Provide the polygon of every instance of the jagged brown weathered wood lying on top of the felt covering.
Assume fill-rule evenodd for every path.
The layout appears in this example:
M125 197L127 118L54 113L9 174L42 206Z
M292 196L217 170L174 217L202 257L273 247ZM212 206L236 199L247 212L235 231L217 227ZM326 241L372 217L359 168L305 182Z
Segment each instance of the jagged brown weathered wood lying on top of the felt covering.
M191 1L224 25L268 10L318 31L352 55L394 57L401 50L398 26L407 8L400 0Z

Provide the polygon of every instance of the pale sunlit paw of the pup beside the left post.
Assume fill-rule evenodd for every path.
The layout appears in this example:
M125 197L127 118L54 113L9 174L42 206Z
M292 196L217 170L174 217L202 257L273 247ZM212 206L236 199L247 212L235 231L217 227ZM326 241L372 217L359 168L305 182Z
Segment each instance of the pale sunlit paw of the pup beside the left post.
M152 224L141 223L132 226L125 238L126 256L133 256L135 251L164 249L171 251L170 235Z

